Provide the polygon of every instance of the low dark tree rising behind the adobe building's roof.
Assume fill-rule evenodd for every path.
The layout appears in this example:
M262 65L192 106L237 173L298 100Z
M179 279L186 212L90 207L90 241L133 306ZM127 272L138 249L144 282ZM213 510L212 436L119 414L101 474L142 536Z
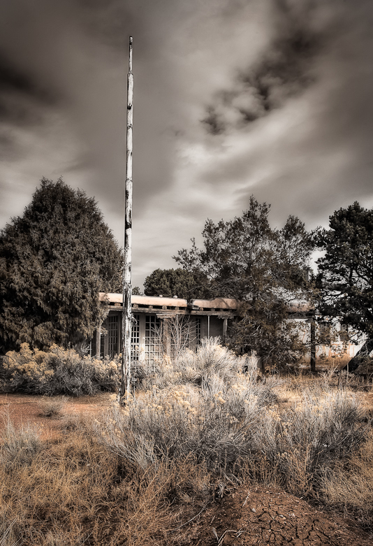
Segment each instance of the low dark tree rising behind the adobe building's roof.
M196 299L205 294L201 282L200 275L182 268L156 269L145 279L145 295Z

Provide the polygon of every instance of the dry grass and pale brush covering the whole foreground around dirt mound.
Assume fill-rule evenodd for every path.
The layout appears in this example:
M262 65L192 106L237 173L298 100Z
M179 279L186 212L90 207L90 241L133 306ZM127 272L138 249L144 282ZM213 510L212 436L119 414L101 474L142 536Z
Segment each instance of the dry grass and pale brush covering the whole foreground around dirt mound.
M187 544L184 524L238 484L276 485L372 524L372 427L348 384L262 378L207 342L159 372L124 408L61 420L57 442L7 420L4 544Z

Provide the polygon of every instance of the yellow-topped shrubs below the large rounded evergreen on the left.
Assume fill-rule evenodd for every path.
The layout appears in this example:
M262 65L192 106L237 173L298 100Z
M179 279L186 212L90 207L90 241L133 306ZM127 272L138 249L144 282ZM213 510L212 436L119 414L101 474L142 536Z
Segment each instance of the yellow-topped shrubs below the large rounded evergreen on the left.
M95 394L115 391L119 385L117 360L80 357L73 349L52 345L48 352L22 343L3 359L3 390L32 394Z

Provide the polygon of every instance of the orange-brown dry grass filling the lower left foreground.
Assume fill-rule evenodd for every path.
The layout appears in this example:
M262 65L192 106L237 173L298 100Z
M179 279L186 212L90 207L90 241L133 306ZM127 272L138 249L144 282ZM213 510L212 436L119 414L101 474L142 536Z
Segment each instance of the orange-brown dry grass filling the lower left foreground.
M1 545L153 545L205 503L204 464L186 457L143 470L106 450L81 419L75 425L62 441L42 443L36 431L9 424L0 458Z

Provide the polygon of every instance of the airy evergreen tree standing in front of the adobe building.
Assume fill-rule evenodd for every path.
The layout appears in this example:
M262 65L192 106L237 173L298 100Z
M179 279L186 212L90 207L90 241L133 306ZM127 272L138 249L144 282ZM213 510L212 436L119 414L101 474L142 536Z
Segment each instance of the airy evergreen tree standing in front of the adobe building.
M191 249L180 250L175 259L186 271L207 278L210 296L242 302L233 346L255 350L263 367L282 367L305 350L298 329L286 319L292 303L312 298L307 269L314 242L297 217L272 229L269 213L267 203L251 196L242 216L217 224L207 220L203 250L192 239Z

